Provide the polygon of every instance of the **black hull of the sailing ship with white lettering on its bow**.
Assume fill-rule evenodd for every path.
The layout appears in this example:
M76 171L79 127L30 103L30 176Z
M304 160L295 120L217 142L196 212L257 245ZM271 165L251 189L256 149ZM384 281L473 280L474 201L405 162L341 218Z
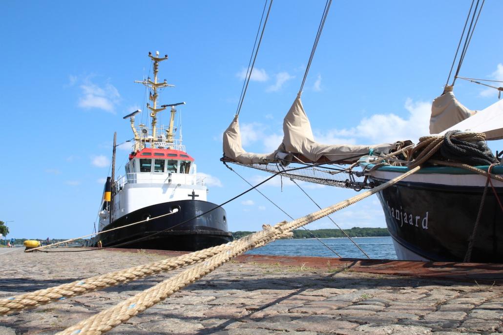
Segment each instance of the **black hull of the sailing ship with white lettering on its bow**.
M372 180L376 184L387 181ZM483 189L400 182L379 192L398 258L463 262ZM496 188L496 193L503 199L502 188ZM497 199L489 189L474 238L471 262L503 263L502 218Z

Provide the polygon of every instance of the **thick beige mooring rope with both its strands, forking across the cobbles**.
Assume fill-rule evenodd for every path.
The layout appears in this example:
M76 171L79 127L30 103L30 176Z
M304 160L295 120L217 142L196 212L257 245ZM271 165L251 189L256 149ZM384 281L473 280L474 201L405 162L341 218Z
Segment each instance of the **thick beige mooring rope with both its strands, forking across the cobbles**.
M231 243L227 243L224 245L220 245L214 248L211 248L212 252L208 252L209 249L201 250L200 252L192 253L185 255L183 257L189 258L189 264L194 264L196 262L199 262L198 265L195 265L180 274L177 274L137 295L134 297L131 297L118 305L106 309L92 317L90 317L87 320L83 320L79 322L78 324L69 327L60 334L101 334L104 333L113 327L121 324L122 322L128 320L132 316L142 312L146 308L153 306L154 304L158 303L159 301L164 300L165 298L169 297L173 293L179 291L181 288L189 285L190 283L195 282L199 278L203 277L204 275L212 272L225 262L229 261L230 259L244 253L246 250L256 248L262 245L265 245L266 243L269 243L275 239L278 238L284 238L284 237L289 237L291 236L291 231L293 229L297 229L301 226L304 226L310 222L313 222L315 220L318 220L322 217L325 217L329 214L332 214L336 211L339 211L345 207L348 207L360 200L363 200L367 197L369 197L372 194L375 194L386 187L392 186L398 181L402 180L403 178L406 178L410 176L411 174L415 173L418 171L420 167L415 167L414 169L408 171L407 173L400 175L399 177L379 185L378 187L357 194L354 197L351 197L350 199L344 200L342 202L339 202L335 205L332 205L330 207L326 207L324 209L321 209L319 211L316 211L314 213L308 214L306 216L303 216L299 219L287 222L283 221L275 226L264 226L264 229L261 231L258 231L256 233L250 234L248 236L245 236L243 238L240 238L236 241L233 241ZM194 255L199 255L200 257L194 258ZM180 258L175 258L175 259L168 259L162 262L169 263L170 261L174 261L172 265L166 265L164 264L164 267L160 266L159 264L149 264L146 266L148 268L145 271L142 271L140 269L141 267L134 267L131 269L127 269L124 271L118 271L114 272L108 275L103 275L103 276L97 276L97 277L102 277L102 282L105 282L106 285L95 285L95 287L88 287L87 285L89 284L89 280L96 280L97 277L92 277L90 279L84 279L81 280L80 282L74 282L70 283L70 285L74 286L80 286L79 289L73 289L70 290L69 287L63 287L64 285L60 285L56 288L59 288L60 292L51 292L51 289L47 290L40 290L40 291L35 291L32 293L26 293L24 295L20 295L17 297L12 297L8 299L4 299L0 301L0 306L8 309L9 310L20 310L28 307L36 307L42 303L47 303L51 302L53 300L57 300L56 298L58 295L61 296L62 292L65 290L71 291L71 292L76 292L76 293L65 293L68 294L69 296L71 295L76 295L76 294L81 294L81 292L84 292L86 290L98 290L103 287L108 287L108 286L114 286L117 285L117 283L125 282L125 281L130 281L130 280L135 280L137 278L141 277L146 277L148 275L158 273L161 271L170 271L175 268L180 268L182 267L182 263ZM203 261L204 262L201 262ZM192 263L190 263L192 262ZM159 262L157 262L159 263ZM128 275L127 273L131 273ZM129 276L129 277L128 277ZM127 277L127 280L124 280L124 277ZM45 292L42 292L45 291ZM28 297L31 295L30 297ZM35 297L39 296L39 297ZM35 303L33 302L35 301ZM15 305L9 305L9 303L15 304ZM6 313L6 309L1 309L2 313Z

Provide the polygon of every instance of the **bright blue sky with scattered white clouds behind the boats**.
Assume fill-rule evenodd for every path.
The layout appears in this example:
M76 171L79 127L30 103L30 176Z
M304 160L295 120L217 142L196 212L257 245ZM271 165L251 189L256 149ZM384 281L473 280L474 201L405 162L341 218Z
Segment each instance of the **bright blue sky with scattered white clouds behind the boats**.
M170 57L161 63L160 78L176 87L165 89L160 99L187 102L180 108L184 144L198 172L211 176L209 200L221 203L247 188L219 161L221 134L236 110L240 73L264 3L155 4L0 3L5 147L0 220L15 221L9 223L9 237L92 232L113 132L118 142L130 139L122 116L144 109L144 88L133 80L148 74L148 51ZM426 134L431 101L442 93L469 6L469 1L334 1L302 98L315 137L371 144ZM323 7L324 1L274 1L240 114L246 150L269 152L281 141L282 119L299 89ZM486 2L461 75L503 80L501 13L503 2ZM462 80L454 92L470 109L497 101L493 92ZM117 174L124 173L126 159L127 150L119 150ZM236 171L251 183L267 176ZM294 217L315 210L295 186L279 185L272 181L261 190ZM304 186L321 206L355 194ZM233 231L286 219L257 193L225 209ZM385 226L377 198L333 218L345 228ZM320 220L310 227L333 224Z

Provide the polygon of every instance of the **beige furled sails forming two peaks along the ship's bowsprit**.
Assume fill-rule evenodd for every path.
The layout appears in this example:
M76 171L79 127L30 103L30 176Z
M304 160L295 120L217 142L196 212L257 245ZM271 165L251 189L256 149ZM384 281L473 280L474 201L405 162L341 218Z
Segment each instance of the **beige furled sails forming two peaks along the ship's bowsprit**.
M301 155L311 162L320 159L330 162L349 162L356 161L359 157L368 154L372 149L376 152L387 153L396 147L395 144L389 143L378 145L326 145L314 141L311 124L302 106L300 95L297 96L283 120L283 132L283 142L276 151L269 154L246 152L241 146L239 124L236 116L223 135L224 156L242 164L285 162L288 160L285 156L289 154Z

